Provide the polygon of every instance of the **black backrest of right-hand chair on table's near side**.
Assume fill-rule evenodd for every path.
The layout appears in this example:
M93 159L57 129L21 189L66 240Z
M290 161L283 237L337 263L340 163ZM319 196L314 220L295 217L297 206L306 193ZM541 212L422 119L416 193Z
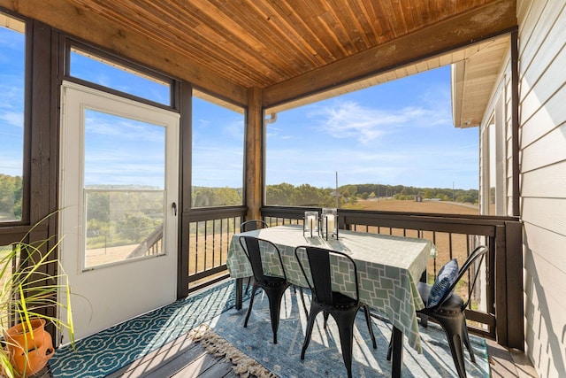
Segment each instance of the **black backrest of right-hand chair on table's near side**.
M298 251L300 250L306 251L307 259L309 261L310 279L304 265L302 264L302 258L299 256ZM331 266L339 264L339 260L341 260L340 263L343 261L348 262L348 265L350 266L348 273L354 277L354 281L356 282L356 300L359 298L356 262L347 254L339 251L327 250L325 248L302 245L294 249L294 256L301 267L302 274L304 275L310 290L317 297L317 301L319 303L334 305ZM344 266L344 264L340 264L340 266Z

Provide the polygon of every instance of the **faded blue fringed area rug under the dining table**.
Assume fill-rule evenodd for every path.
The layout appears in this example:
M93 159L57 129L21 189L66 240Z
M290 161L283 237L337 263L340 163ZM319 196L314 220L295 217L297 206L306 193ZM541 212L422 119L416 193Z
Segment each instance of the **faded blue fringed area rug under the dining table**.
M309 296L305 296L307 305ZM269 372L281 378L298 377L345 377L344 366L340 352L340 339L333 320L328 321L328 328L322 327L322 314L317 317L309 349L305 359L301 361L301 349L307 319L301 302L297 303L297 295L293 289L286 292L281 305L281 320L279 322L278 343L272 343L272 327L269 315L268 299L263 294L256 296L254 308L249 318L248 328L243 328L245 313L249 302L244 302L240 311L228 310L217 318L205 323L212 330L211 339L204 332L201 342L210 346L215 354L222 351L218 337L222 343L226 340L226 347L237 348L251 360L264 366ZM332 319L332 318L331 318ZM373 321L374 332L378 342L378 349L371 347L371 338L363 312L358 313L356 319L354 339L354 361L352 373L355 377L391 376L391 363L386 360L387 345L391 336L391 326L383 321ZM201 327L206 328L206 327ZM404 343L403 351L403 377L457 377L454 362L450 354L445 333L437 325L429 322L428 328L419 328L423 343L423 354L418 354ZM197 337L198 338L198 337ZM465 351L465 364L468 377L488 377L489 364L486 355L486 342L484 339L470 336L475 351L476 363L472 363L468 351ZM226 346L226 345L225 345ZM226 351L224 351L226 352ZM220 354L223 354L222 352ZM226 352L228 356L231 353ZM233 355L233 353L232 353ZM232 359L232 357L230 357ZM236 358L241 360L241 358ZM244 362L249 366L253 363ZM235 366L234 370L243 372L242 366ZM249 373L254 374L254 370ZM245 372L243 372L245 374ZM269 376L269 375L268 375Z

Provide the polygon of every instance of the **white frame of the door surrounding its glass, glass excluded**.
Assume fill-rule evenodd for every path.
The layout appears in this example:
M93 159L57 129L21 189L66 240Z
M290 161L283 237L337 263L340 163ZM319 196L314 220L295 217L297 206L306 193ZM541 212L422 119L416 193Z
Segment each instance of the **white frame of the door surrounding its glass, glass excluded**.
M176 300L180 115L63 82L59 161L60 259L72 291L75 338L92 335ZM84 269L84 111L93 109L165 127L164 254ZM143 153L143 151L140 151ZM66 314L60 316L65 319ZM62 337L66 337L63 333ZM68 340L62 339L62 343Z

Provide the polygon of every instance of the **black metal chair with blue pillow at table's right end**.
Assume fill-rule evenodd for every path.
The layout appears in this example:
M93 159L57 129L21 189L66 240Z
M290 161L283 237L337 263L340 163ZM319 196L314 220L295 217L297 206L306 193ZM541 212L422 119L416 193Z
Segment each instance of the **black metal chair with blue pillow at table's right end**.
M423 310L418 310L417 315L423 316L425 321L421 320L421 324L425 326L428 318L435 320L440 324L442 329L446 332L450 351L452 352L452 359L460 378L466 376L466 367L463 359L463 345L466 346L470 352L471 362L476 362L474 352L470 345L470 336L468 335L468 326L466 325L465 309L468 307L472 291L476 284L479 274L479 268L486 256L487 247L480 245L470 253L466 258L463 266L459 269L455 277L455 281L447 287L444 294L440 297L438 304L427 306ZM458 282L460 282L465 274L472 269L473 275L470 275L470 284L468 285L468 298L466 300L454 293L454 289ZM425 282L418 282L417 289L423 299L424 305L429 302L431 295L431 284ZM387 351L387 359L391 358L391 346Z

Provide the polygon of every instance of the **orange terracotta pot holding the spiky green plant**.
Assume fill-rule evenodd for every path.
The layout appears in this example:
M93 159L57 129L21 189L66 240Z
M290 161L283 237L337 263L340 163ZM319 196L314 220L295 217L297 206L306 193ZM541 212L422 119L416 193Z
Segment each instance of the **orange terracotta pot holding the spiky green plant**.
M10 356L16 374L21 377L38 373L55 352L51 336L45 331L45 320L34 319L30 322L33 340L30 333L24 333L21 323L4 332L4 349Z

